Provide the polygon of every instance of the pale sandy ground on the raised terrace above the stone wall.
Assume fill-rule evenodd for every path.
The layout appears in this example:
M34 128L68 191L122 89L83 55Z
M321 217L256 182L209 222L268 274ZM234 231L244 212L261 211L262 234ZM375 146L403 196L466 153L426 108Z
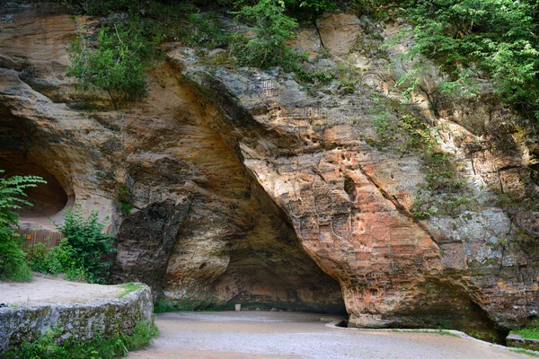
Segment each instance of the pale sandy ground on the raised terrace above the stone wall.
M0 303L31 306L49 303L84 303L102 298L118 298L117 285L89 285L34 274L31 283L0 283Z

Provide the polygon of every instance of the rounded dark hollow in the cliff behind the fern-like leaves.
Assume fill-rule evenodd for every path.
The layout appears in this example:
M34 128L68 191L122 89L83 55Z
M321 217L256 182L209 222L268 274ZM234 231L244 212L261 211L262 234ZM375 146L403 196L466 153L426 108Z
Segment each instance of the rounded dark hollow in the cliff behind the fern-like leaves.
M54 228L49 218L60 219L61 212L70 202L66 190L57 178L52 175L42 163L35 159L26 158L23 153L0 153L0 169L4 176L40 176L47 183L34 188L27 188L25 193L33 206L22 206L17 212L22 228L39 227Z

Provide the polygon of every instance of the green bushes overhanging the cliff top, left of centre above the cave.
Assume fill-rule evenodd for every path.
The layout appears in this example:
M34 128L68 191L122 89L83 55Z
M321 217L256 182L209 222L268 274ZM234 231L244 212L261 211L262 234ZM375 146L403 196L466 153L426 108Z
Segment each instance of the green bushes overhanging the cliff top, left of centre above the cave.
M297 27L292 15L305 17L335 9L337 2L332 0L218 1L236 9L231 12L236 19L252 26L256 36L249 38L223 30L216 13L200 13L190 2L57 1L91 15L129 14L128 23L111 23L98 31L95 46L85 35L75 41L70 51L73 66L67 71L75 76L80 89L108 92L116 107L121 101L146 96L145 70L155 63L155 45L161 39L208 49L229 46L238 66L281 66L303 82L327 83L332 78L323 71L305 71L301 54L287 46Z

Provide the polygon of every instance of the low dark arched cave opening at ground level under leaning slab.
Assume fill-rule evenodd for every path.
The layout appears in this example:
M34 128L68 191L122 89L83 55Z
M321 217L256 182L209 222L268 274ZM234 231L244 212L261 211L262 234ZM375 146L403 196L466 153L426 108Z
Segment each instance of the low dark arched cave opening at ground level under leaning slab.
M208 309L233 310L241 304L248 310L347 315L340 284L301 249L281 245L233 250L229 266L216 282L217 288L229 291L229 299Z

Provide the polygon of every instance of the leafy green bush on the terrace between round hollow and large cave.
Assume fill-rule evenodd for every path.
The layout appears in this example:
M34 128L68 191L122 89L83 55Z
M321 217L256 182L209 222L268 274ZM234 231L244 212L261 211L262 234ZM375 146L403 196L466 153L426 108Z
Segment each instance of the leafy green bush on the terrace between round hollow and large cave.
M103 232L105 221L100 221L97 211L84 218L82 210L66 211L63 224L56 224L59 232L67 238L61 244L59 253L68 253L62 267L68 279L86 280L90 283L104 283L108 276L110 262L103 261L109 253L114 252L114 233Z

